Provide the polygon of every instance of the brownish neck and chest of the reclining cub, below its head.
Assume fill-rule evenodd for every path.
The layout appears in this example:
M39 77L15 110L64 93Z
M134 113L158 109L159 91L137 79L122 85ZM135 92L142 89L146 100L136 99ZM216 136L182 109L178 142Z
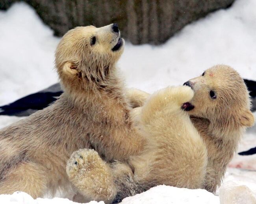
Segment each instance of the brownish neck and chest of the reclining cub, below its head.
M224 177L226 166L237 149L242 130L216 135L210 120L191 116L191 121L200 133L208 151L208 164L204 188L214 193ZM222 128L222 127L219 127Z

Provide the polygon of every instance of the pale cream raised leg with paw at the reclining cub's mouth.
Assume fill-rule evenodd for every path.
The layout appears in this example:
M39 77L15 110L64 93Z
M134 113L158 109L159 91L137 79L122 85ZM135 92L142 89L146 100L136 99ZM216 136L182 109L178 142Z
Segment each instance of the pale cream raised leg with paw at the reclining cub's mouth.
M149 166L140 170L150 169L146 183L156 180L156 184L202 188L207 149L182 108L193 95L187 86L167 87L154 93L142 107L143 129L154 146L154 154L148 156Z

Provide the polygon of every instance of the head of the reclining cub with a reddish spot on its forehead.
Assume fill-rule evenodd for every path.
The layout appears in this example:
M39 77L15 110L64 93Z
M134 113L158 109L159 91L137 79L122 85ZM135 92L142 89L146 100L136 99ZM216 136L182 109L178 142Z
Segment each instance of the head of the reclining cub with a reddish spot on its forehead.
M236 128L252 126L250 98L241 76L229 66L217 65L184 85L195 94L185 110L189 115L208 119L219 127Z

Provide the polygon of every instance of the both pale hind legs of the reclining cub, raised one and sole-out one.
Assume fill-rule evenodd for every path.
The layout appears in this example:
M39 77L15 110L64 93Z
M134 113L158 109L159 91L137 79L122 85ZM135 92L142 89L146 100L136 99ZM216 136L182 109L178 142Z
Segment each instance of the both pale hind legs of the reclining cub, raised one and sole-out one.
M87 199L106 203L113 201L115 196L122 199L159 184L202 188L207 165L206 147L188 113L182 110L182 105L192 97L192 89L184 86L167 87L153 94L142 108L133 112L135 126L141 135L147 135L147 145L141 154L130 157L128 164L111 164L111 173L96 151L79 150L67 165L72 184ZM77 159L80 155L88 156ZM87 164L91 155L96 159L90 161L88 168L84 163ZM102 174L108 177L108 182L102 181Z

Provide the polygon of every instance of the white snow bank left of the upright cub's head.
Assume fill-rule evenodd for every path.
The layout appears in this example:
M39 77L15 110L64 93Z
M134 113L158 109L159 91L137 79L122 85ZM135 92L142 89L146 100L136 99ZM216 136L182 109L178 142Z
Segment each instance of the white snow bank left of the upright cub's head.
M25 3L0 11L0 104L58 81L54 51L59 38Z

